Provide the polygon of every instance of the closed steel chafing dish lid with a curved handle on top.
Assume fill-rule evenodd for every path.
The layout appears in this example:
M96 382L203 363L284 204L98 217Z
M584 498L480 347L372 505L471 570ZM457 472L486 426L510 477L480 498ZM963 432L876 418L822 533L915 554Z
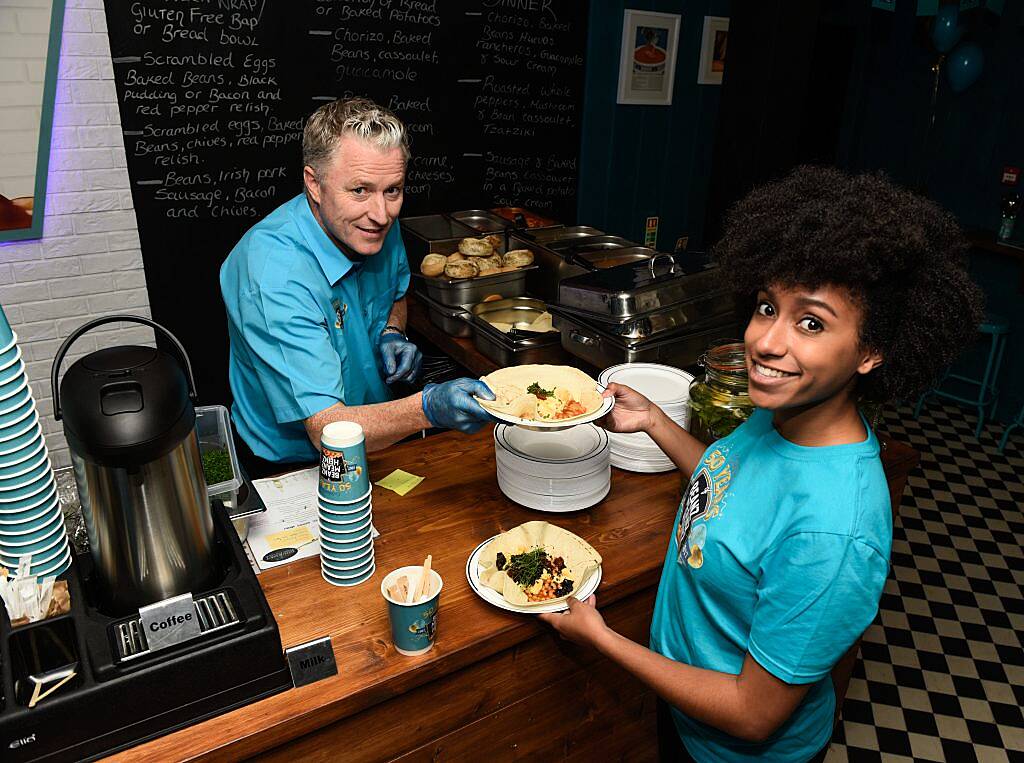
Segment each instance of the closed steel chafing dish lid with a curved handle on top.
M558 304L604 320L637 317L701 297L717 288L717 269L693 252L659 254L637 264L618 265L565 279Z

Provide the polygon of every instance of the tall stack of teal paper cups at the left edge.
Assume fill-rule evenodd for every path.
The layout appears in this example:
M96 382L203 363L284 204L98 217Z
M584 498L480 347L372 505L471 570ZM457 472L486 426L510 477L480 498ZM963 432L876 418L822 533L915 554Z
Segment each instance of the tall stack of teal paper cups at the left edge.
M0 566L60 575L71 565L60 499L17 336L0 309Z

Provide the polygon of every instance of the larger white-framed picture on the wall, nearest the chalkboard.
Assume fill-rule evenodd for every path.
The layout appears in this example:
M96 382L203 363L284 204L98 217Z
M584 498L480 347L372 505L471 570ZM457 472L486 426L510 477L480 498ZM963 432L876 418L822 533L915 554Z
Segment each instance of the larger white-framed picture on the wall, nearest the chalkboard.
M626 9L617 102L672 104L680 19L678 13Z

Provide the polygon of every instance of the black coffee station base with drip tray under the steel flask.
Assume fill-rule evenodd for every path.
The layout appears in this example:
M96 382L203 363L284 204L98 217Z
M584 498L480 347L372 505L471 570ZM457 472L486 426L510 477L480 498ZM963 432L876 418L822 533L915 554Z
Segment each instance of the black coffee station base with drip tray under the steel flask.
M224 579L195 594L196 639L151 652L137 617L95 608L83 557L61 576L71 613L15 629L3 613L0 759L93 760L291 687L278 625L219 504L214 520ZM75 677L30 709L29 676L70 665Z

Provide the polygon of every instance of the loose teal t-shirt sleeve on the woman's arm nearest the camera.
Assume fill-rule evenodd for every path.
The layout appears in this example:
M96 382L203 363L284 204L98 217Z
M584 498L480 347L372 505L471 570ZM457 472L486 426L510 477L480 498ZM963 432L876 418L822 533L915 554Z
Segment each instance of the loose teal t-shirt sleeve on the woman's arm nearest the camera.
M855 538L790 536L762 563L748 651L786 683L820 680L874 620L888 571Z

